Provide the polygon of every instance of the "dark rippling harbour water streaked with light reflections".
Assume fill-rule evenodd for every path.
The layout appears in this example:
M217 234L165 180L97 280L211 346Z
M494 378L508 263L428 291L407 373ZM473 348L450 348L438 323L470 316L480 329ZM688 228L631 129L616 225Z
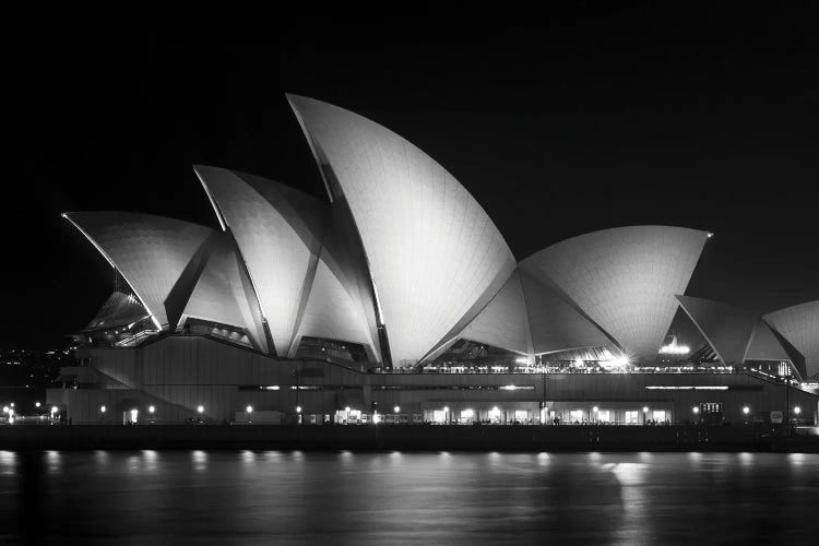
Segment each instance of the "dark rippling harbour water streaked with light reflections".
M0 451L0 543L814 543L819 455Z

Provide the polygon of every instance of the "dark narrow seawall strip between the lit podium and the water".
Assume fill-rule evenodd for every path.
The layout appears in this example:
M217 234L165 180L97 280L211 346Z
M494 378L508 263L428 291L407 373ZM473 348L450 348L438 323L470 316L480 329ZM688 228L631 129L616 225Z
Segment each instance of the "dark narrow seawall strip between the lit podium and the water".
M0 427L0 450L756 451L819 453L817 436L724 426L69 425Z

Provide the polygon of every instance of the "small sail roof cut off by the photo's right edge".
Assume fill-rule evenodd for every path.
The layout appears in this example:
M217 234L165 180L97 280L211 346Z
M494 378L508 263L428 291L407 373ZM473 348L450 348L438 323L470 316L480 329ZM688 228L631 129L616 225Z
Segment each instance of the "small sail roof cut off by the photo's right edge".
M819 375L819 300L765 314L765 322L805 357L808 377Z

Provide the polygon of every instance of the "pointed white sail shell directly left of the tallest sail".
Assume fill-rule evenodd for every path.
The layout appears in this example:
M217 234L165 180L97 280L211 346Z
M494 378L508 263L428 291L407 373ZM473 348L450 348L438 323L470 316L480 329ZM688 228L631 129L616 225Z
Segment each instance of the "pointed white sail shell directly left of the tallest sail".
M252 175L194 170L247 263L275 352L286 356L316 273L328 205Z

